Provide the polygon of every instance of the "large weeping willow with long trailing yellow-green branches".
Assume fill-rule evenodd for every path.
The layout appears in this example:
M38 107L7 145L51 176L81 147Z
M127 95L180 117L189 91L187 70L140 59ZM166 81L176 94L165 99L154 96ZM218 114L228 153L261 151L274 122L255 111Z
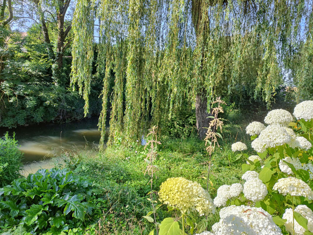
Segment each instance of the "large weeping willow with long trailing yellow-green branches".
M312 9L312 0L78 0L72 85L78 83L87 112L98 31L101 145L111 71L111 141L162 127L186 102L195 107L203 138L217 95L245 90L270 105L286 74L299 94L312 91L304 88L313 81Z

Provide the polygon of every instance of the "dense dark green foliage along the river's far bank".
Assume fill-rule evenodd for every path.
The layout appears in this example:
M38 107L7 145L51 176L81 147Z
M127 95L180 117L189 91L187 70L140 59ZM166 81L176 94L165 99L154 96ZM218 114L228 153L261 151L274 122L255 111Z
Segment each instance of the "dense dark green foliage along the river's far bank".
M29 29L27 36L10 34L8 58L1 74L4 81L0 86L0 126L12 128L84 117L84 101L78 92L67 87L69 79L65 86L56 86L51 78L54 62L48 58L45 45L36 38L35 29ZM64 60L64 74L69 76L69 70L70 61ZM101 109L100 83L97 76L91 81L90 115L99 114Z

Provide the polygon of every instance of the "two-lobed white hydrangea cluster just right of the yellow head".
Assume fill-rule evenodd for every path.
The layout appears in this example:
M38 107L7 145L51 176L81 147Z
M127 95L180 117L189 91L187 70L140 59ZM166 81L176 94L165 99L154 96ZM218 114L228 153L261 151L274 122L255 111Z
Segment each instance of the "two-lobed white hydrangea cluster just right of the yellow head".
M239 196L242 190L242 185L239 183L222 185L218 188L217 196L214 198L213 203L217 207L225 206L229 198Z

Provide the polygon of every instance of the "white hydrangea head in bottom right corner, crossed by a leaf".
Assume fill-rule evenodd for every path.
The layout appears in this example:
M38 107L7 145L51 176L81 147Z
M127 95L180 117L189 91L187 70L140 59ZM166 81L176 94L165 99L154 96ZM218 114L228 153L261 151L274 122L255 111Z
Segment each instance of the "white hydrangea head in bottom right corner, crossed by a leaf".
M311 209L305 205L299 205L295 208L295 212L305 217L308 220L308 229L313 232L313 213ZM293 219L293 213L291 208L287 208L283 215L283 219L286 219L285 227L288 232L293 234L293 227L295 227L295 235L303 235L305 228L302 227L296 220ZM293 225L293 221L295 224Z

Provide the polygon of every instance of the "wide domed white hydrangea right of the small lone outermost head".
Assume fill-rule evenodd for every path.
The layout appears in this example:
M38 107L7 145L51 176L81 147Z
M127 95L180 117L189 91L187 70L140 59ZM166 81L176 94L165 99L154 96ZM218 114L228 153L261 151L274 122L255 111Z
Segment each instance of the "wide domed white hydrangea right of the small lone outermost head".
M285 128L279 125L269 125L261 131L258 138L254 139L251 146L255 151L262 152L263 149L289 143L290 139L291 136L287 133Z

